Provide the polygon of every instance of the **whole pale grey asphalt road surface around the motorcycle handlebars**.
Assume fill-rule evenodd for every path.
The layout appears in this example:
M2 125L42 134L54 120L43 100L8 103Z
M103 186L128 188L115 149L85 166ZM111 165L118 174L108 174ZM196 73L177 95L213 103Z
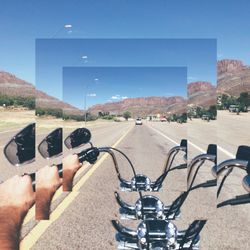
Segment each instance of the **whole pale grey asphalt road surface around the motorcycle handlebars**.
M169 149L183 138L189 140L189 160L205 151L209 143L218 143L220 146L218 162L233 157L239 145L249 145L248 121L249 116L245 114L236 116L223 112L219 113L217 121L209 123L201 120L193 120L188 124L144 122L143 126L134 126L134 123L129 122L109 123L90 127L90 130L94 145L111 146L131 128L117 147L129 156L138 173L146 174L154 180L162 171ZM65 132L65 136L67 133L68 131ZM37 141L45 134L44 131L38 134ZM12 135L13 132L1 133L0 147L3 147ZM64 155L67 153L71 152L65 149ZM132 171L128 164L120 157L118 160L122 176L130 179ZM51 160L49 163L55 161ZM182 155L180 155L175 164L182 162ZM38 156L36 164L28 170L44 164L48 162ZM211 163L207 163L201 168L195 184L213 178L212 166ZM6 169L2 170L3 167ZM25 167L18 170L8 165L2 155L1 170L1 177L3 172L6 176L10 176L18 171L26 171ZM233 172L226 182L219 201L245 193L241 186L244 174L238 170ZM182 191L186 190L186 185L187 170L174 171L167 176L163 190L157 196L165 204L171 204ZM114 199L115 190L119 190L119 183L113 164L110 159L107 159L86 180L76 194L76 198L67 205L59 218L44 233L39 233L41 237L32 249L116 249L115 230L110 223L111 219L119 218L119 207ZM182 207L181 220L175 221L177 227L186 229L194 219L208 219L201 234L201 249L249 249L250 205L216 209L218 202L216 191L217 187L192 191ZM128 203L133 204L138 199L136 193L121 191L120 193ZM59 200L62 201L62 199ZM53 206L54 208L56 205ZM136 221L122 221L122 223L133 229L137 225ZM29 231L30 228L23 231L27 232L27 230Z

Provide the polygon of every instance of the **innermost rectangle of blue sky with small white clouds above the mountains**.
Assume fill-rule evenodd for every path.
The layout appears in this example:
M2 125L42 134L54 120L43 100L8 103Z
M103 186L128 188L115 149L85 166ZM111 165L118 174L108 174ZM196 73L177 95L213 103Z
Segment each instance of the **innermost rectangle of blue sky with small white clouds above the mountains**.
M125 98L187 95L186 67L64 67L63 100L84 109Z

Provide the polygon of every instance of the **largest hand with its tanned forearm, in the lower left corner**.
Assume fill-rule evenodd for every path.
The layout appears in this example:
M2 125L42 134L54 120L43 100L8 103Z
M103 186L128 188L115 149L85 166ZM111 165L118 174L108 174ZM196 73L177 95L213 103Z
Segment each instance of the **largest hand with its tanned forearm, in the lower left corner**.
M18 249L23 219L35 202L30 176L14 176L0 184L0 246Z

